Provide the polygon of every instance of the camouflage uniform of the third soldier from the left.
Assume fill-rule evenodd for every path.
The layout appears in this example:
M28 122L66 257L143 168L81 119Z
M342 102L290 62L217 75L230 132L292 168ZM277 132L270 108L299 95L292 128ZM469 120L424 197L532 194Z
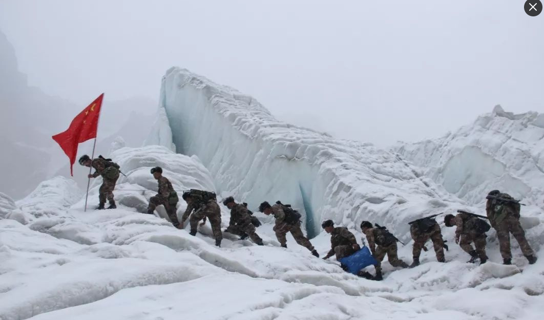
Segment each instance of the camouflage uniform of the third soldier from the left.
M195 210L195 212L193 212L193 210ZM209 223L212 224L212 232L215 240L221 241L223 239L223 235L221 233L221 209L215 200L210 199L202 205L196 205L193 201L187 203L187 209L181 218L182 223L187 221L187 218L191 212L193 212L189 219L191 233L196 234L196 227L199 221L207 217Z

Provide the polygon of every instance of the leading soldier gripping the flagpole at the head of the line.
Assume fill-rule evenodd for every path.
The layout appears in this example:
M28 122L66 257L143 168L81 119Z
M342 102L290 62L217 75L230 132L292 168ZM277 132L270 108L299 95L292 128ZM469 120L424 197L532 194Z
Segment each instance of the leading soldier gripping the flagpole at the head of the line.
M113 199L113 190L115 189L115 183L119 179L119 166L112 162L110 159L104 159L102 156L92 159L88 155L84 154L79 158L79 164L85 167L95 168L95 173L89 174L89 178L96 178L98 175L102 175L102 185L98 190L98 200L100 203L97 206L97 210L104 209L106 199L109 201L108 209L115 209L115 200Z

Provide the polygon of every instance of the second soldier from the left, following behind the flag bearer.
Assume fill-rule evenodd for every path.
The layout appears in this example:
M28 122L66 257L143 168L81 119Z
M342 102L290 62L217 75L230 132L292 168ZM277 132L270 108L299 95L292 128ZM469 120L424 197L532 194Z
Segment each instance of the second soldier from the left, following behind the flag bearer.
M159 190L156 196L149 199L149 206L147 207L147 213L152 215L153 211L158 205L164 205L170 221L174 227L181 229L180 221L177 219L176 205L179 200L177 192L174 191L172 184L166 177L163 177L163 168L154 167L151 169L151 174L159 183Z

